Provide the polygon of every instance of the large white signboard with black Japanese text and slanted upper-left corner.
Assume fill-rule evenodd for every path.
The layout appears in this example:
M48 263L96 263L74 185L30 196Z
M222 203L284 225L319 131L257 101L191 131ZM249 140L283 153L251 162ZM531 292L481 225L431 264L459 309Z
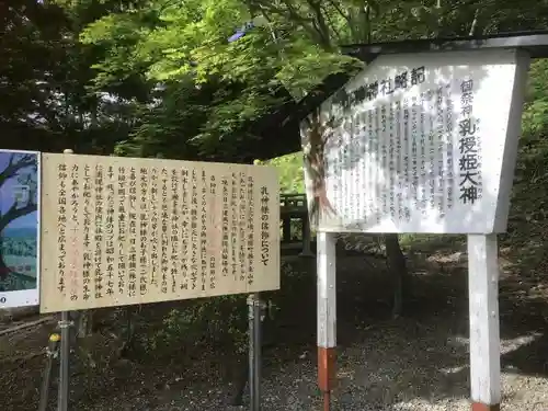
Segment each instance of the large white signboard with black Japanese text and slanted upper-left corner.
M510 49L378 57L301 124L312 225L504 231L527 68Z

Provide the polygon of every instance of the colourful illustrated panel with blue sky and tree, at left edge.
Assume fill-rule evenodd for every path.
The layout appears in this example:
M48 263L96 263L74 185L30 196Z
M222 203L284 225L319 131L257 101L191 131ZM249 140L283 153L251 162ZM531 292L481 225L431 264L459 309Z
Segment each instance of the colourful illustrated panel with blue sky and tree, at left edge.
M0 308L38 304L39 153L0 150Z

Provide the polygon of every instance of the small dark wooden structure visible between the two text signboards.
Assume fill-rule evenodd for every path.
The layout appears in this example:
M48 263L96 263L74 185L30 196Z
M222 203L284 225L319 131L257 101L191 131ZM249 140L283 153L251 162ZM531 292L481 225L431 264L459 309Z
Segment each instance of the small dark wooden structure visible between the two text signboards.
M302 247L299 255L313 256L310 250L310 222L305 194L282 194L279 196L279 218L282 220L282 250ZM292 238L292 220L300 220L301 241Z

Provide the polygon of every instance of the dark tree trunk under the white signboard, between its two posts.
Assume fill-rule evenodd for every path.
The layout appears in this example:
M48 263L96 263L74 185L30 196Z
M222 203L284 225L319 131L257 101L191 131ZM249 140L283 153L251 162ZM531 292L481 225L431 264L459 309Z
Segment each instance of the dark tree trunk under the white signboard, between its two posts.
M386 235L386 263L388 271L393 282L393 305L392 317L398 318L401 316L403 305L403 292L408 284L408 270L406 256L401 251L398 235Z

